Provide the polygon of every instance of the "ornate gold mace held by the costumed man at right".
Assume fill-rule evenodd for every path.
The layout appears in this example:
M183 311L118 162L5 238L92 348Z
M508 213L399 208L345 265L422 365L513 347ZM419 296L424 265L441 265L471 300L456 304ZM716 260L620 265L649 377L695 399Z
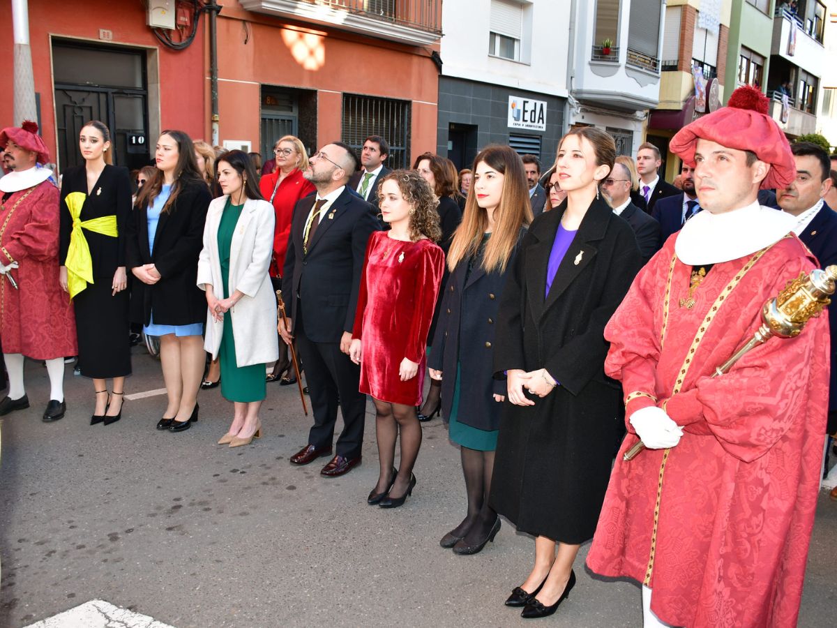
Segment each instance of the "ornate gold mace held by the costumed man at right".
M768 342L772 337L794 338L802 333L805 323L819 317L819 312L831 303L829 296L834 294L834 281L837 280L837 265L827 266L825 270L812 270L810 275L801 273L796 279L788 281L783 291L773 299L768 299L762 306L762 327L753 334L749 342L738 349L727 362L715 369L711 377L723 375L732 365L752 347ZM640 440L625 451L624 461L634 460L645 445Z

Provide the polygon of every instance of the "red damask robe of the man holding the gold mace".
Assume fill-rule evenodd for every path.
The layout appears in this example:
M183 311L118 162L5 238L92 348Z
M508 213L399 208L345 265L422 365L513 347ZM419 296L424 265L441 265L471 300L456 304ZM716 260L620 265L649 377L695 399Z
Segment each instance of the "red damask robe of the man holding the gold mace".
M632 398L628 417L655 404L631 394L650 394L685 434L624 462L638 440L628 425L588 565L650 586L651 609L672 625L793 626L823 456L828 321L812 319L800 336L771 338L709 376L752 337L764 301L816 261L784 238L748 269L752 255L714 265L688 309L680 299L691 266L672 261L674 244L608 323L605 370Z

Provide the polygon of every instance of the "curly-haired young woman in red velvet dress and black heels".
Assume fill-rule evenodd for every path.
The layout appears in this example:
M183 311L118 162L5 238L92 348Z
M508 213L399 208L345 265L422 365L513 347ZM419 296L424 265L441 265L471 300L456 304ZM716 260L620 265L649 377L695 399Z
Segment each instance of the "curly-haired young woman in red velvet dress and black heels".
M401 506L413 492L413 465L421 446L416 406L422 401L427 335L444 270L439 199L418 172L396 170L378 188L389 231L369 238L363 263L352 361L361 365L360 390L376 409L381 474L367 502ZM401 469L395 441L401 433Z

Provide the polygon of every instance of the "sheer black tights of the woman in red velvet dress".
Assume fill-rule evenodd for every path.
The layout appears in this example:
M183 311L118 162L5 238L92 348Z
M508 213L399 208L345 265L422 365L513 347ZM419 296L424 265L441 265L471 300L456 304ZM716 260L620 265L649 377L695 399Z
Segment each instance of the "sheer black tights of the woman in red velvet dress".
M375 492L384 492L393 480L395 468L395 440L401 433L401 461L395 484L390 490L391 497L403 497L407 492L413 465L419 456L421 447L421 424L413 405L390 404L387 401L375 402L375 432L377 435L377 455L381 461L381 474L378 477Z

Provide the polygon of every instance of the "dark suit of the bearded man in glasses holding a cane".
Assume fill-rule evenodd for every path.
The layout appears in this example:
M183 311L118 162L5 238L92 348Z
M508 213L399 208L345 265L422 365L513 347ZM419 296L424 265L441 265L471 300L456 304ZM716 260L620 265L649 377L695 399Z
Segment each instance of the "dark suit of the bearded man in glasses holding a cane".
M302 198L290 225L282 294L306 365L314 425L308 444L330 448L337 404L346 425L337 439L338 456L357 458L363 445L366 395L358 391L360 367L340 350L343 332L352 332L367 240L377 229L369 203L345 188L321 215L303 249L303 231L316 194Z

